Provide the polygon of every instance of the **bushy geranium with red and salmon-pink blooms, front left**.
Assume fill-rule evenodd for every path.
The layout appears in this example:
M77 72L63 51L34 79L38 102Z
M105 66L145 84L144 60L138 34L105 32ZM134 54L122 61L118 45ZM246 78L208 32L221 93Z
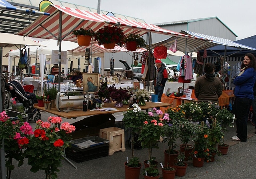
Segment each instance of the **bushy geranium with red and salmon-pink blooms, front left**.
M56 179L64 149L70 146L71 138L67 134L75 131L75 127L68 122L62 123L61 117L50 116L46 122L38 120L35 128L34 135L22 145L24 156L32 166L30 171L44 170L46 179Z

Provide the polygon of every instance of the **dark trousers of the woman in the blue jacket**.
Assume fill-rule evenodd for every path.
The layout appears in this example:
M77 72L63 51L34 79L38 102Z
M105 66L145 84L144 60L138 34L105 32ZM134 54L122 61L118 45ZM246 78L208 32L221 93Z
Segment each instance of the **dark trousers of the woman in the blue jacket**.
M233 111L236 115L236 136L243 142L247 140L247 120L252 99L236 97Z

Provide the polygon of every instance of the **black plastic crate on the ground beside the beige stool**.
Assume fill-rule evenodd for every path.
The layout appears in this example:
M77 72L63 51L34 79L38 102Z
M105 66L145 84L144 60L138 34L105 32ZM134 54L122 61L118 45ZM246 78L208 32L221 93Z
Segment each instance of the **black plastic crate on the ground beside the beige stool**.
M89 140L94 142L94 144L81 144ZM66 157L76 163L108 156L109 141L98 136L72 140L71 145L71 148L65 149Z

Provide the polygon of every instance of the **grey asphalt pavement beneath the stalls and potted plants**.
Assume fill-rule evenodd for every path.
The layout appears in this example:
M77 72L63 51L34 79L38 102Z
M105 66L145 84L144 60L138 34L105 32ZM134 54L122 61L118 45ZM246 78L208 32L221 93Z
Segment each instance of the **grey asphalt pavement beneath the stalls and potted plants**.
M49 113L42 112L42 120L46 121ZM77 119L63 119L73 123L81 120L83 117ZM32 127L35 126L34 121L29 121ZM235 126L236 127L236 126ZM225 134L225 143L229 144L227 155L216 156L214 162L204 162L202 168L193 167L192 162L188 161L188 167L186 175L184 177L175 177L175 179L255 179L255 165L256 165L256 135L255 127L248 122L248 140L247 142L232 141L231 137L236 135L235 128L229 128L229 131ZM177 144L180 145L180 141L177 140ZM159 143L159 149L153 149L152 155L156 157L158 161L158 169L160 172L160 178L162 177L162 171L160 169L160 162L164 163L164 150L167 149L166 143ZM135 150L136 157L140 158L140 161L148 159L148 149ZM126 157L131 157L131 149L126 142L126 151L117 151L113 155L107 157L101 157L82 163L76 163L70 160L78 169L75 169L66 160L62 160L62 167L58 172L58 178L60 179L124 179L124 163ZM30 165L27 164L25 159L24 165L17 167L17 162L14 161L15 169L12 171L12 179L44 179L44 171L38 171L32 173L30 171ZM144 166L142 166L142 170ZM140 179L143 179L142 170L140 173Z

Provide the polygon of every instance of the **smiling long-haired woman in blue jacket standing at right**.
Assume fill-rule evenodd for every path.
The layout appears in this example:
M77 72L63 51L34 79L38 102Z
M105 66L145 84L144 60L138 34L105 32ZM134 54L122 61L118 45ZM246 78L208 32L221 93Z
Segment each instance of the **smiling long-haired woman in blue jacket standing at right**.
M240 74L234 79L234 101L233 111L236 115L236 135L232 140L246 142L247 140L247 119L253 95L253 86L256 78L256 60L253 54L244 56Z

